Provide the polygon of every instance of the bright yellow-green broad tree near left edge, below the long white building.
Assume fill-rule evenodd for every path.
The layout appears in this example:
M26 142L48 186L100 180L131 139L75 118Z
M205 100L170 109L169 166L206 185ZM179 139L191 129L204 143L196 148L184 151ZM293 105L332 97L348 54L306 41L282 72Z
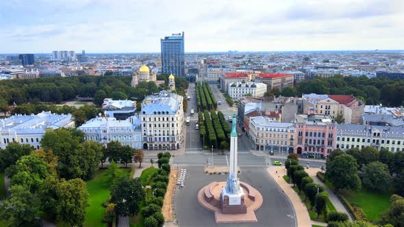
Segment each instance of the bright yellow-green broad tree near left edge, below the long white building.
M24 185L30 191L38 190L49 172L47 164L36 155L25 155L15 165L5 170L11 177L11 185Z

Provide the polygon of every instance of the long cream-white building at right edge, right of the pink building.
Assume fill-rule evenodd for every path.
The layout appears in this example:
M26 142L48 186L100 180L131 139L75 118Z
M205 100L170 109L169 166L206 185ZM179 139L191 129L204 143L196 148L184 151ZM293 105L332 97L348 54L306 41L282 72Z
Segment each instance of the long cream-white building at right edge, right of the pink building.
M404 151L404 127L337 124L336 143L341 150L373 146L377 150Z

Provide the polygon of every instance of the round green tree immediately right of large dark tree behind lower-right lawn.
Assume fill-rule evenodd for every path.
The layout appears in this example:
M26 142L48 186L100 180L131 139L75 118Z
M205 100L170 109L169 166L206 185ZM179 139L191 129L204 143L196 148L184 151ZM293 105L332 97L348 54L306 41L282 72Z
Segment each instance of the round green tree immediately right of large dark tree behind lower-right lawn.
M375 191L386 191L392 185L392 176L388 171L388 166L379 161L365 165L360 176L363 185Z

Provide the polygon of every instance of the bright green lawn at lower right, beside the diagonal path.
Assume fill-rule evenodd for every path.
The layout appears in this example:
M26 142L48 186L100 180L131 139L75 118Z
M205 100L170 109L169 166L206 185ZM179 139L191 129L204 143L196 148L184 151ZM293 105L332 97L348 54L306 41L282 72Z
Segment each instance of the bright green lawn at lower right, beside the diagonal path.
M351 202L362 208L366 217L371 221L380 219L381 213L385 212L390 206L390 195L387 193L377 193L362 189L361 191L341 190L341 194Z

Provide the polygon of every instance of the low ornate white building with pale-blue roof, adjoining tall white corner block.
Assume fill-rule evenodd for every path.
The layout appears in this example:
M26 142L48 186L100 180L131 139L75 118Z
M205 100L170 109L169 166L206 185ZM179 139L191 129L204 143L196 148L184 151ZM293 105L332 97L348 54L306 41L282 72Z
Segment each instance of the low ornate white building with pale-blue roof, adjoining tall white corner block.
M118 141L123 146L142 148L142 133L138 116L131 116L127 120L92 118L77 129L86 134L84 139L99 142L103 146L107 146L108 142Z

